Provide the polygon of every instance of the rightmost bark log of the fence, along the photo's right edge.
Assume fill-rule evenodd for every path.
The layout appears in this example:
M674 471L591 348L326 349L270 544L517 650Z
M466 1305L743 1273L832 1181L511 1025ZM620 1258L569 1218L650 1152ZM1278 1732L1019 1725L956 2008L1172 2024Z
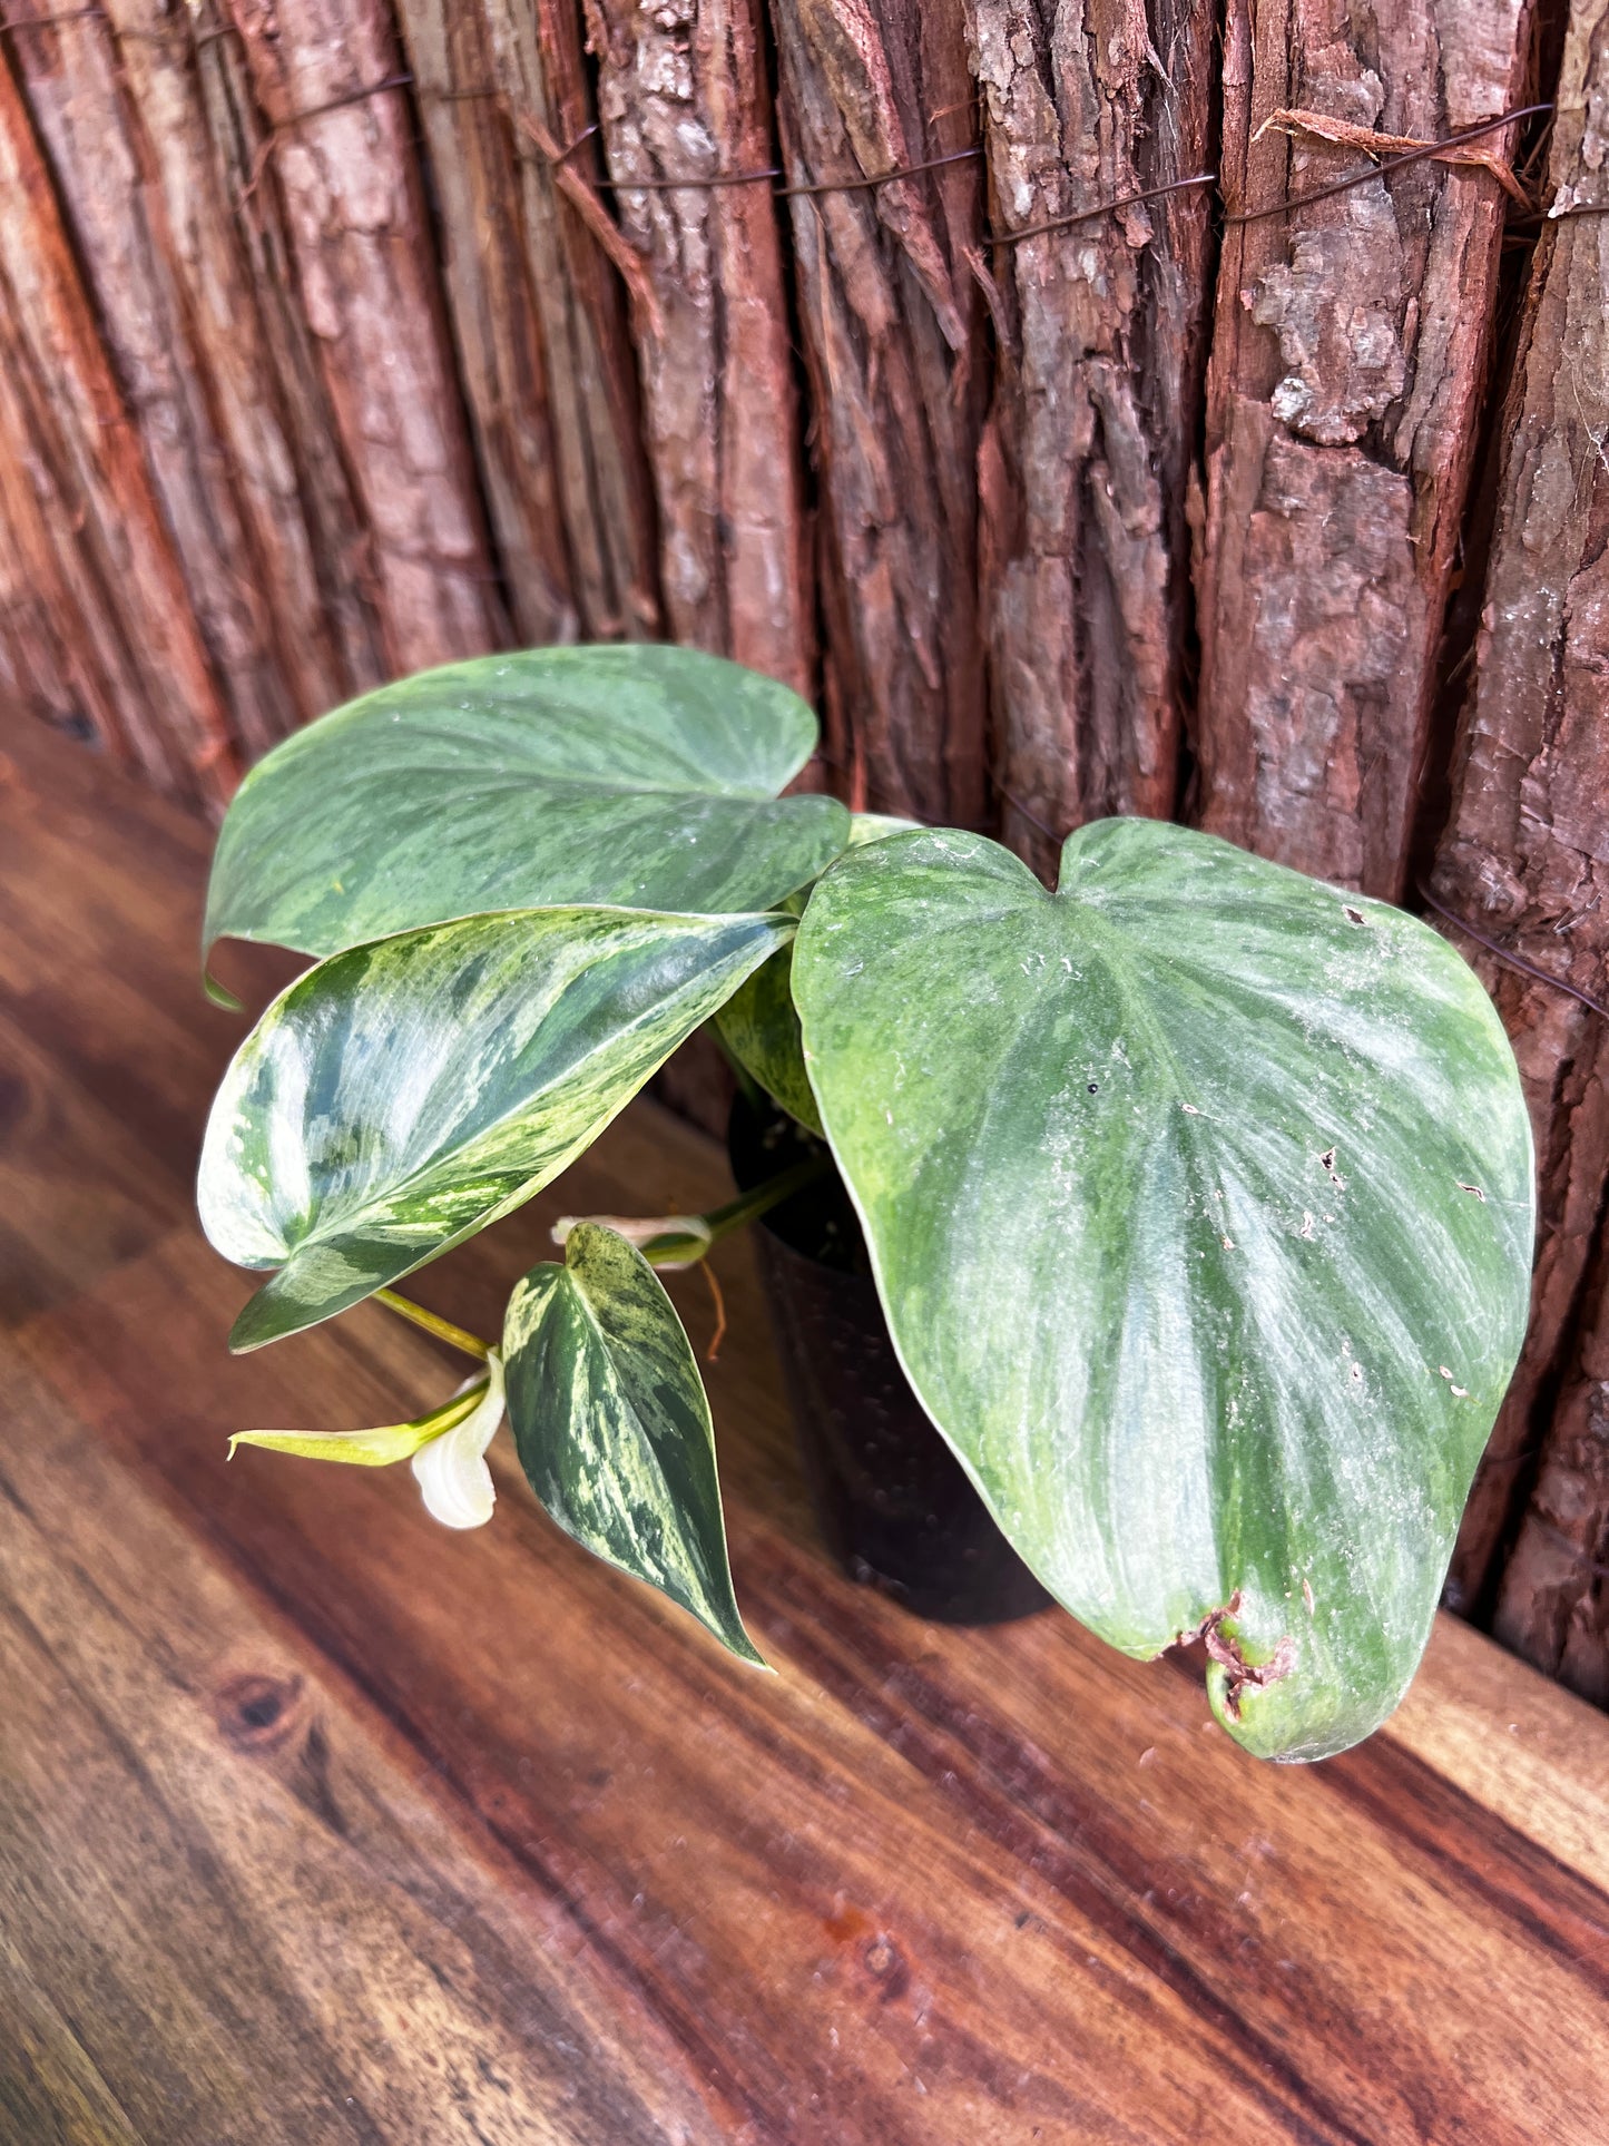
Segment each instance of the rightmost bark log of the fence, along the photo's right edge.
M1553 206L1609 204L1609 0L1577 0L1549 146ZM1435 891L1489 938L1609 998L1609 217L1549 221L1532 264L1476 642ZM1609 1700L1609 1030L1482 957L1536 1125L1540 1238L1532 1333L1452 1569L1474 1601L1510 1506L1497 1631ZM1596 1255L1594 1255L1596 1240ZM1592 1277L1590 1281L1585 1277ZM1577 1305L1588 1303L1579 1343ZM1538 1401L1564 1393L1551 1425ZM1542 1436L1540 1470L1527 1446ZM1596 1569L1594 1569L1596 1567Z

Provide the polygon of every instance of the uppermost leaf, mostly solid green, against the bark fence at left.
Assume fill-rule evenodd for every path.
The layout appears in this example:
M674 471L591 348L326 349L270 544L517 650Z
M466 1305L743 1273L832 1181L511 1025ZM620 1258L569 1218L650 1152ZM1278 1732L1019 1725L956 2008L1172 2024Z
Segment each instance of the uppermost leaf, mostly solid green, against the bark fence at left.
M230 805L206 944L326 955L485 910L764 910L850 839L779 792L787 687L691 648L534 648L420 672L275 747Z

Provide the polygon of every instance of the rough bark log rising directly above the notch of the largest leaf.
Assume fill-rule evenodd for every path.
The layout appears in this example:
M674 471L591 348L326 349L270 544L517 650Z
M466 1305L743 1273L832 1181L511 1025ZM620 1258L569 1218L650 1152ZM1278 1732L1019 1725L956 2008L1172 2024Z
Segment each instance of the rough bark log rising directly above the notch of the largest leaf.
M1212 28L1195 0L970 0L995 225L1201 172ZM1004 831L1043 867L1047 831L1176 805L1208 208L1180 193L993 253L985 631Z

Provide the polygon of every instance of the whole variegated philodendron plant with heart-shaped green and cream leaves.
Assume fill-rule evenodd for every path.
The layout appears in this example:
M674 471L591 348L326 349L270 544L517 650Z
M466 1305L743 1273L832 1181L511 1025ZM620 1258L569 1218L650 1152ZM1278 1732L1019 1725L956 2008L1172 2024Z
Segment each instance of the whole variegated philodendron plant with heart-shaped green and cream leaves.
M339 708L242 783L206 938L315 957L219 1090L206 1232L272 1275L232 1346L365 1296L481 1361L386 1429L491 1513L504 1412L553 1519L757 1659L704 1386L654 1266L712 1217L594 1219L496 1348L393 1294L530 1200L695 1028L822 1133L899 1358L1073 1616L1208 1640L1268 1758L1367 1736L1425 1648L1521 1346L1532 1140L1474 972L1401 910L1103 820L1045 886L980 835L783 796L789 691L678 648L549 648Z

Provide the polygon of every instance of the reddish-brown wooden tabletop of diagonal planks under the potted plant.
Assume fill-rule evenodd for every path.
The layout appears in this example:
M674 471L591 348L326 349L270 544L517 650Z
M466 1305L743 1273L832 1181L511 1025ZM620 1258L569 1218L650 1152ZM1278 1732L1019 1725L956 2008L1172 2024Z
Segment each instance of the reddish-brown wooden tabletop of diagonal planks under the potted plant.
M225 1466L234 1427L393 1421L457 1371L375 1307L225 1356L206 852L11 725L4 2146L1609 2137L1609 1719L1444 1620L1369 1745L1259 1766L1189 1663L847 1586L742 1245L710 1384L779 1676L588 1560L506 1451L463 1537L408 1470ZM721 1182L635 1105L414 1285L491 1333L560 1208Z

